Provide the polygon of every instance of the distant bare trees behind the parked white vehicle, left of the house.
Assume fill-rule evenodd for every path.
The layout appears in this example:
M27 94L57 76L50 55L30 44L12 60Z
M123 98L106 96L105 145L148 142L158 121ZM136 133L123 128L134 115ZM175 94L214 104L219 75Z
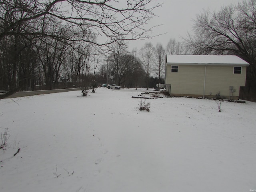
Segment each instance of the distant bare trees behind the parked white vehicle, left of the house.
M110 46L105 64L99 68L101 77L107 82L126 88L158 88L164 83L165 55L185 54L185 48L175 39L170 39L166 47L146 42L139 50L128 51L128 45L119 41ZM104 81L103 81L104 82Z

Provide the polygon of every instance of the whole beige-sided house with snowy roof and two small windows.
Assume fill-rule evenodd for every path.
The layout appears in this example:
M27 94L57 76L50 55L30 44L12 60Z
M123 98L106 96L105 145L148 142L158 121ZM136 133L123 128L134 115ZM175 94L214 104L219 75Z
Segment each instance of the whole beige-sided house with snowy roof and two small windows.
M166 91L171 95L238 100L248 65L231 55L166 55Z

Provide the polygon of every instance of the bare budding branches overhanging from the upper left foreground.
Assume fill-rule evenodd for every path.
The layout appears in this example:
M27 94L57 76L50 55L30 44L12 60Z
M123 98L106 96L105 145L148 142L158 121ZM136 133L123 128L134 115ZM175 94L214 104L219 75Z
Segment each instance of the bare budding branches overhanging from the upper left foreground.
M44 27L52 19L69 29L76 28L75 40L97 45L116 42L120 36L125 40L148 37L151 29L144 24L154 16L154 9L161 6L153 0L2 0L0 4L0 39L17 34L67 39ZM12 30L17 26L23 27L18 32ZM103 40L97 43L86 39L89 28L95 35L102 35Z

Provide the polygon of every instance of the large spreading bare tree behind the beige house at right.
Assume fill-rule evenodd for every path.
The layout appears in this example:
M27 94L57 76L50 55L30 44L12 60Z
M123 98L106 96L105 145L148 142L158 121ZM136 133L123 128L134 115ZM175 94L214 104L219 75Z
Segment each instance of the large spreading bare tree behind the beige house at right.
M250 63L245 92L251 96L256 93L255 10L256 0L225 6L218 12L205 10L194 21L194 34L187 38L187 47L194 54L234 54Z

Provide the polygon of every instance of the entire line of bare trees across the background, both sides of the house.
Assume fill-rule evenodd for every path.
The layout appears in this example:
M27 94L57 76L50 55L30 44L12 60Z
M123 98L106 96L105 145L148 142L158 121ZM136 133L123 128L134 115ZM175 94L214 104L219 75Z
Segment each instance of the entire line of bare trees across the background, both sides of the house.
M147 42L128 52L127 40L147 38L153 0L2 0L0 90L77 85L83 80L151 88L162 83L165 54L231 54L250 65L243 98L256 94L256 0L204 10L183 42ZM155 81L155 80L154 80ZM155 83L155 82L154 82Z

